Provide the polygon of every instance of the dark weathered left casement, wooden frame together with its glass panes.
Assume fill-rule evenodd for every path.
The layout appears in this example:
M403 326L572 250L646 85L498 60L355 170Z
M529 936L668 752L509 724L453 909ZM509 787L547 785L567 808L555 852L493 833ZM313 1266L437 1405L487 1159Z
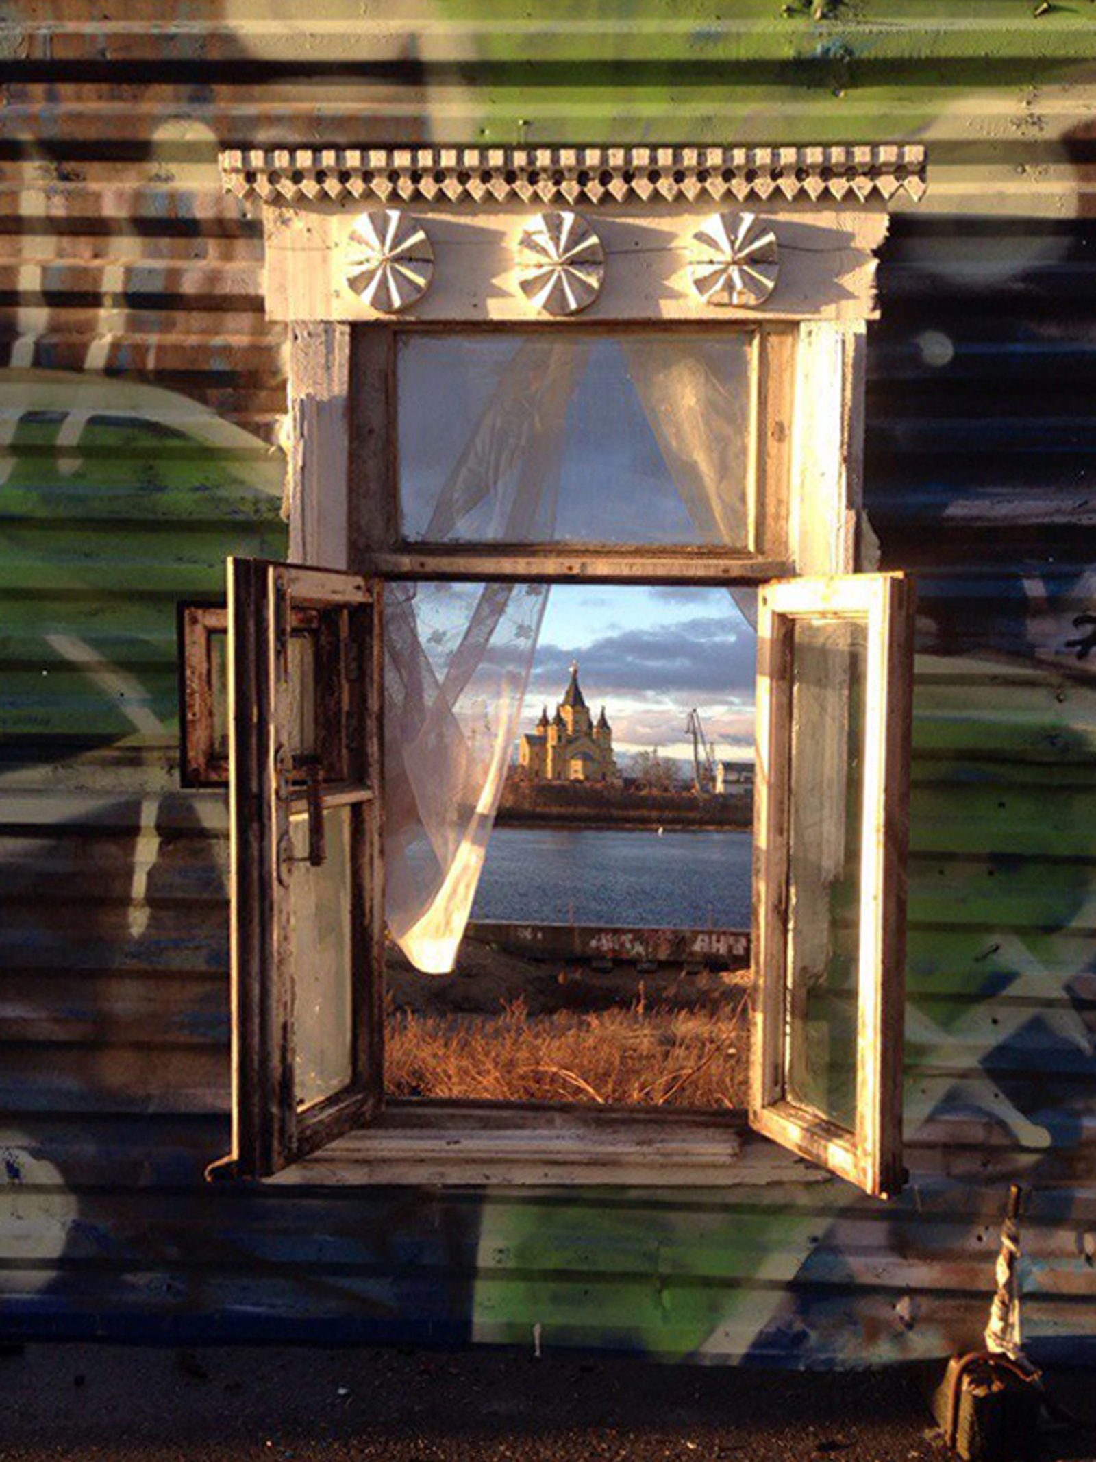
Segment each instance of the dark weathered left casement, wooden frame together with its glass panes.
M376 1116L380 595L228 561L232 1156L275 1173Z

